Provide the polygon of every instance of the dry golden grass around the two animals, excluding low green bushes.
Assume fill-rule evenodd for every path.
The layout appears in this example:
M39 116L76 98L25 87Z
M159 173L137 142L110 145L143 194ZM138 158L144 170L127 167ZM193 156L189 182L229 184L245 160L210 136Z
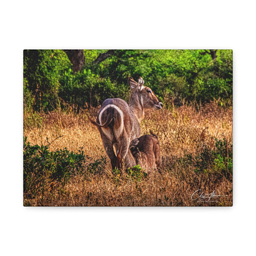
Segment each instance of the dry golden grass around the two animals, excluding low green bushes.
M97 110L94 110L94 115ZM28 124L25 113L24 136L31 145L47 145L57 138L50 150L67 148L96 159L106 156L100 134L88 121L87 111L56 111L41 114L39 124ZM218 173L196 173L193 166L177 161L184 153L196 154L207 145L214 148L215 138L225 137L232 143L232 110L209 103L196 110L181 106L172 110L146 111L141 124L142 135L152 130L158 134L162 154L162 172L154 172L138 182L113 174L110 162L103 174L83 177L75 175L65 186L52 186L44 195L33 199L24 195L24 204L31 206L231 206L232 180ZM196 190L225 195L207 200L192 200Z

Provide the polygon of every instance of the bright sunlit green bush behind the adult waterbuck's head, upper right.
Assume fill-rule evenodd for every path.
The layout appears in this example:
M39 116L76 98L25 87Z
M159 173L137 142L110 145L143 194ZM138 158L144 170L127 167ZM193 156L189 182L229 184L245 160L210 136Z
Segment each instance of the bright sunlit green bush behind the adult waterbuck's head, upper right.
M124 86L142 76L166 105L177 97L204 103L232 98L232 61L232 50L217 50L216 62L204 50L119 50L97 73Z

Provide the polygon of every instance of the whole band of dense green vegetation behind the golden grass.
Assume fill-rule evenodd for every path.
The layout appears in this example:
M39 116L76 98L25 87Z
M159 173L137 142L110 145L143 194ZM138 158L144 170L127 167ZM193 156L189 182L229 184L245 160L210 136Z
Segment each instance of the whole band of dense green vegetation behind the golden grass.
M127 100L129 76L142 76L167 107L214 99L231 105L232 50L115 50L95 63L105 52L84 50L84 66L74 73L63 50L24 50L25 110L49 111L66 103L97 106L113 97Z

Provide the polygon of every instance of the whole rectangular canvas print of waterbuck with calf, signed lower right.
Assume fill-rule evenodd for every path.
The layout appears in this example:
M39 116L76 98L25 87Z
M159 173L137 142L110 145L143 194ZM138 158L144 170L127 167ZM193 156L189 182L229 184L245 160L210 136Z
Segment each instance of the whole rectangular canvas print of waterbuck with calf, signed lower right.
M232 206L232 50L24 50L24 206Z

